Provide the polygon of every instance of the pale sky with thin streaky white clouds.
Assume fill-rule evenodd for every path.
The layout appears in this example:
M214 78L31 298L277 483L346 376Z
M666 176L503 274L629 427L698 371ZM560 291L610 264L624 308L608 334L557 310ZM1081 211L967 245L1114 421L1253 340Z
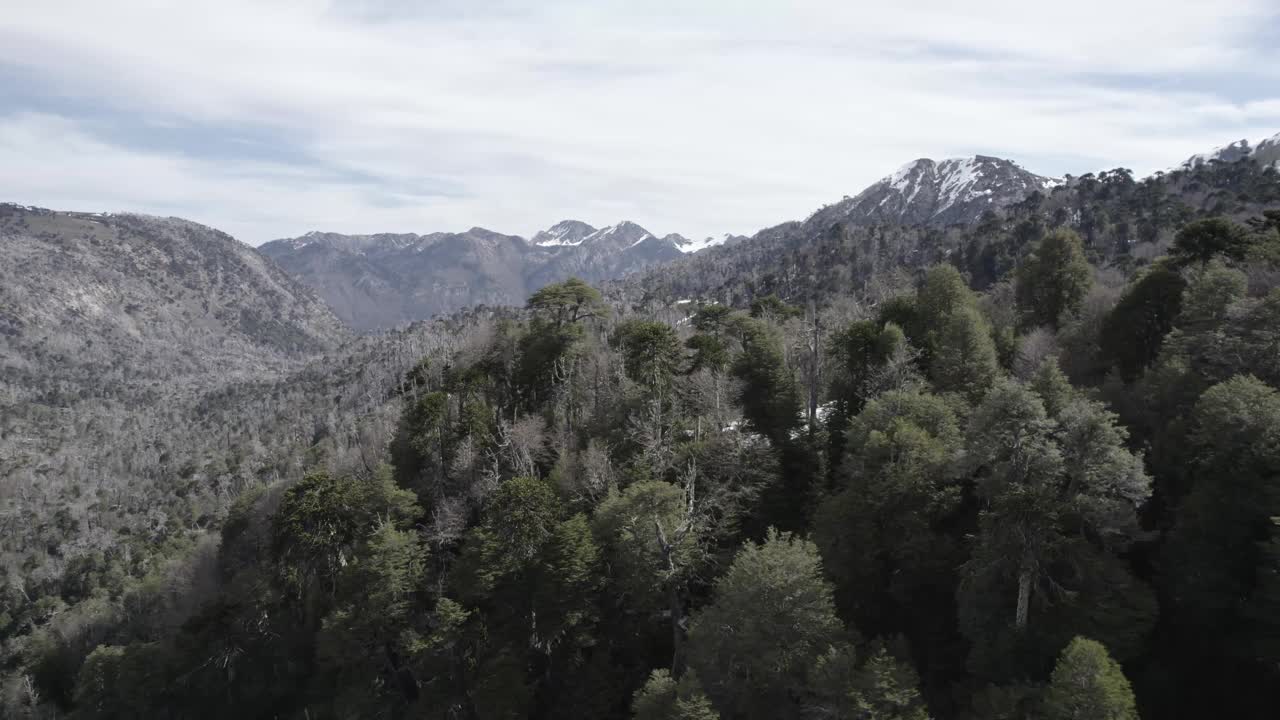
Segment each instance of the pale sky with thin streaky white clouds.
M0 0L0 201L750 234L915 158L1139 176L1280 132L1275 0Z

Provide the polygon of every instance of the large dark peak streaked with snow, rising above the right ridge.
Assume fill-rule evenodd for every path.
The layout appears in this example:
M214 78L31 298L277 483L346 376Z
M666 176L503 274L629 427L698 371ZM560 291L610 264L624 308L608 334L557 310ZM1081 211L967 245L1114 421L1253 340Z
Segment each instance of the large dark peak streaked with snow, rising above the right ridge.
M858 195L818 210L805 224L970 224L987 210L1048 191L1060 182L1002 158L975 155L941 161L922 158Z

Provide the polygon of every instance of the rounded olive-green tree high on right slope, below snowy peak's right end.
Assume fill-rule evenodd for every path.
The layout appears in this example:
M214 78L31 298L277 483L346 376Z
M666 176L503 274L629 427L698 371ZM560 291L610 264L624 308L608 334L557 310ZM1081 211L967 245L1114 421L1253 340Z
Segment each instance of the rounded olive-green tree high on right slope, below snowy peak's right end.
M1018 268L1015 293L1023 325L1057 329L1064 315L1079 310L1093 284L1093 268L1075 231L1059 228L1039 241Z

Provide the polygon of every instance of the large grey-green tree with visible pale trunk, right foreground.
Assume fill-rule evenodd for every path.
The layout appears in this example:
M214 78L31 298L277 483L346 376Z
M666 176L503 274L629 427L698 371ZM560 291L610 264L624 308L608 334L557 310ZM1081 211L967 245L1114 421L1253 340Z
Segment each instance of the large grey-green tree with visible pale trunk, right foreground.
M974 413L968 456L984 509L959 600L975 670L1014 679L1084 630L1140 650L1155 600L1115 553L1137 537L1151 484L1125 441L1101 405L1076 397L1055 419L1007 382Z

